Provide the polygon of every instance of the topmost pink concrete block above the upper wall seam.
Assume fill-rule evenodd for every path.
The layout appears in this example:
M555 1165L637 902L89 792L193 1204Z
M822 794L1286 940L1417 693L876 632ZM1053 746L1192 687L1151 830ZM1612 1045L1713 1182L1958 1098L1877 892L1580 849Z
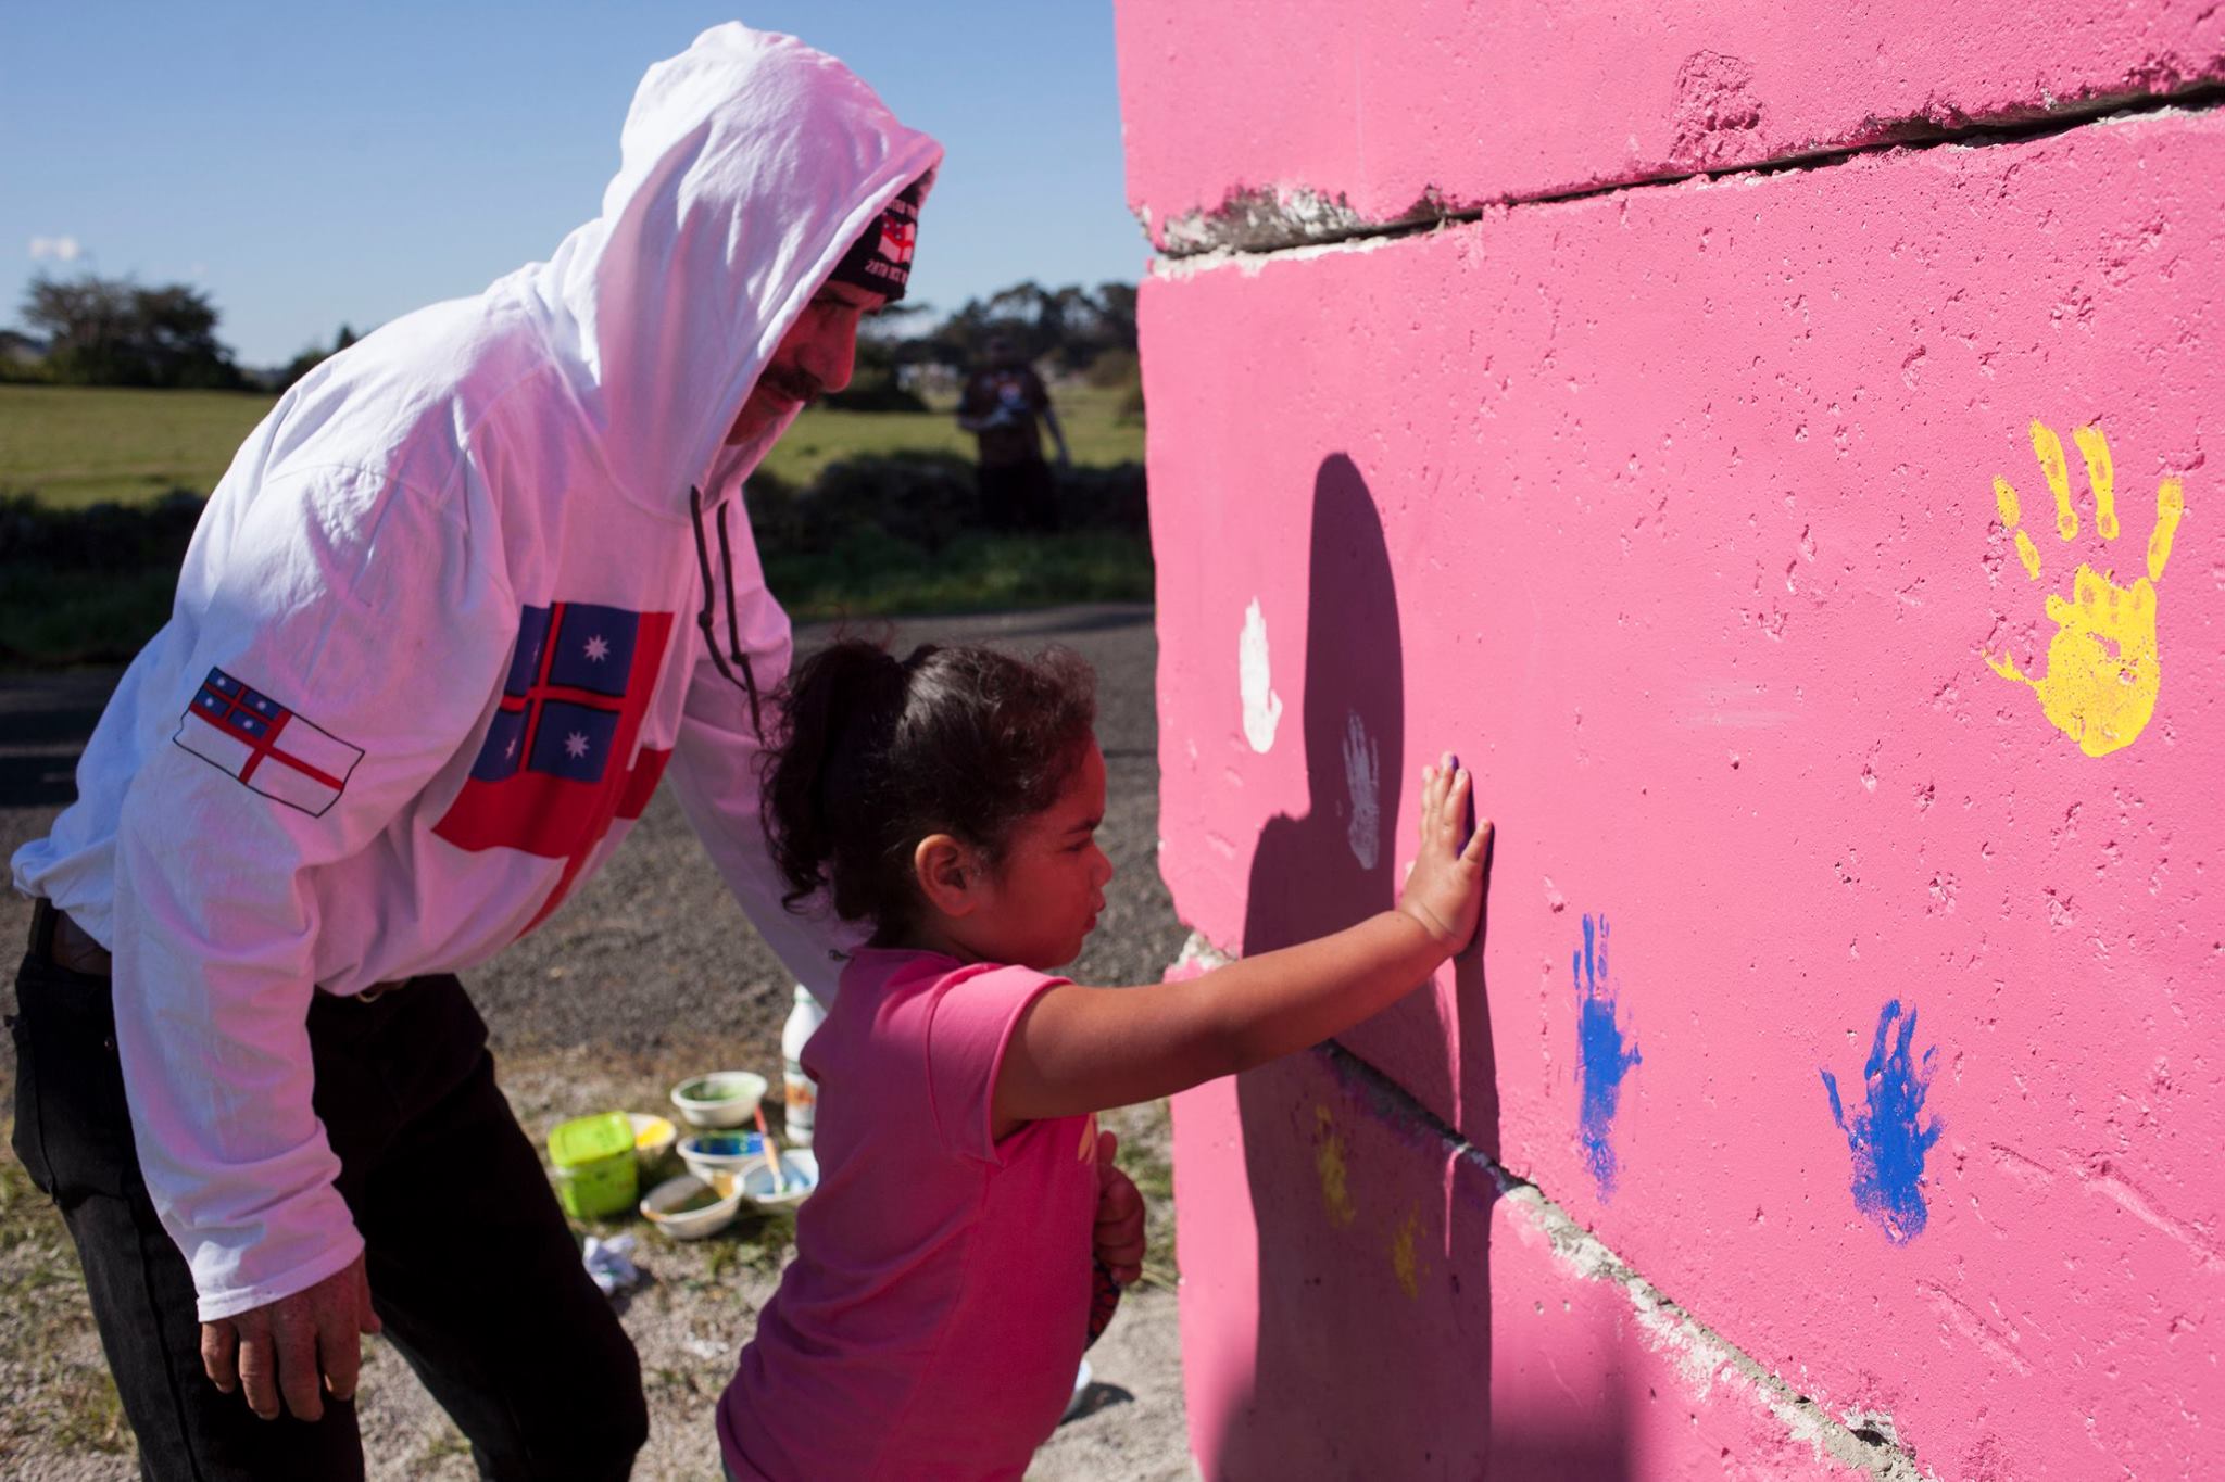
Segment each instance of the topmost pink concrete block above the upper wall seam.
M2225 11L2140 4L1121 0L1128 200L1270 247L2225 80Z

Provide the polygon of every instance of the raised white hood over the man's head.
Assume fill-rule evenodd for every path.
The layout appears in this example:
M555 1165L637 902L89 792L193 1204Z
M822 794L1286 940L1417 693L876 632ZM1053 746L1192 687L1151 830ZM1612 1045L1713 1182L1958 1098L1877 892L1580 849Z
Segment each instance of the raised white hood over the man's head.
M683 520L785 431L721 458L803 304L941 158L834 58L712 27L641 80L603 213L492 293L538 320L612 482Z

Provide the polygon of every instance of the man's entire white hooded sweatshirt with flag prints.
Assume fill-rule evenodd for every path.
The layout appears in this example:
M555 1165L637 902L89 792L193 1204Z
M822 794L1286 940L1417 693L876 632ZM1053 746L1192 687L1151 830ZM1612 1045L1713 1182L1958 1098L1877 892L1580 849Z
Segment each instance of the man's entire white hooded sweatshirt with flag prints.
M688 493L728 500L770 444L721 451L810 296L941 149L832 58L728 24L650 69L621 156L550 262L380 327L278 400L78 802L16 853L18 889L113 951L136 1151L202 1320L363 1251L314 1109L314 993L485 962L610 858L661 775L799 982L823 982L825 933L781 911L765 858L752 698L685 627L712 595ZM725 647L772 687L788 618L748 529L732 562L714 529ZM527 751L496 775L521 744L490 751L496 722L545 700L514 673L527 622L554 653L563 611L625 655L565 691L599 700L572 707L596 760Z

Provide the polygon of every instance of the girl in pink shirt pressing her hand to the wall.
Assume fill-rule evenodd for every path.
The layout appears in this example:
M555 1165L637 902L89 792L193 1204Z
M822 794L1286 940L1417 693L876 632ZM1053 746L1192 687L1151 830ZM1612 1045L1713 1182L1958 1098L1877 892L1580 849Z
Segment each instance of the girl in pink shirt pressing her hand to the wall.
M1491 824L1466 835L1446 755L1422 771L1395 911L1188 982L1086 989L1052 973L1112 878L1081 658L899 662L846 640L797 667L779 713L763 795L788 904L872 935L803 1051L819 1189L719 1400L725 1466L1019 1478L1141 1269L1141 1202L1095 1113L1304 1049L1424 982L1475 935Z

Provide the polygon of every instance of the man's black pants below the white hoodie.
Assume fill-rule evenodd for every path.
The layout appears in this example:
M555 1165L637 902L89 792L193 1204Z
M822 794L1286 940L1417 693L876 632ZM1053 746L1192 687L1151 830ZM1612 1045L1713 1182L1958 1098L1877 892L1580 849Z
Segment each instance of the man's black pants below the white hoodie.
M16 1004L16 1155L78 1244L142 1475L360 1478L354 1404L256 1420L202 1373L194 1280L140 1182L109 982L27 958ZM463 984L318 993L309 1044L372 1302L481 1475L625 1478L650 1426L641 1362L494 1087Z

